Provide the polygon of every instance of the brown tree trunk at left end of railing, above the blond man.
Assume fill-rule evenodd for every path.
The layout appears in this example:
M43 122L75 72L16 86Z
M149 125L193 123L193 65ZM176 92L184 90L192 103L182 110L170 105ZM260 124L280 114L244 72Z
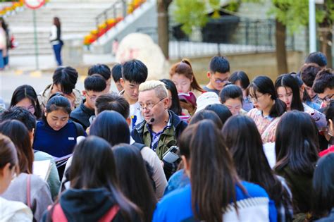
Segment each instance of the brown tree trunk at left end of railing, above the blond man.
M169 27L168 27L168 6L173 0L158 0L158 44L161 48L163 55L169 58Z

